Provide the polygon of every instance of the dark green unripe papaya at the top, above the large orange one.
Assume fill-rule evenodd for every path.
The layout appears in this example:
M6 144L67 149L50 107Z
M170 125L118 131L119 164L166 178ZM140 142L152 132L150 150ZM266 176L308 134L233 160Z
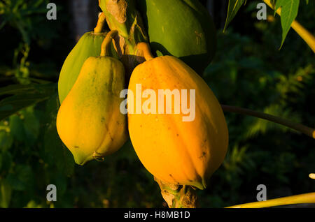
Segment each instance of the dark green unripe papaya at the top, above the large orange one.
M202 75L216 52L216 28L196 0L137 0L157 56L172 55Z

